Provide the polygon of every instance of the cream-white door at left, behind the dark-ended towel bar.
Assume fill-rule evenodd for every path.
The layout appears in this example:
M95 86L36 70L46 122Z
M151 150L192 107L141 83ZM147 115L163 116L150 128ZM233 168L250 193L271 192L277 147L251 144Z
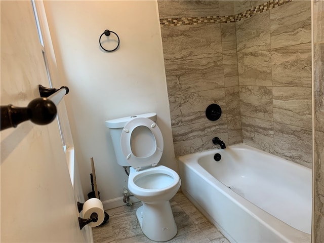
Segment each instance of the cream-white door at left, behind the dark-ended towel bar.
M1 105L26 107L39 84L49 83L32 4L1 1ZM87 241L57 120L25 121L0 135L1 242Z

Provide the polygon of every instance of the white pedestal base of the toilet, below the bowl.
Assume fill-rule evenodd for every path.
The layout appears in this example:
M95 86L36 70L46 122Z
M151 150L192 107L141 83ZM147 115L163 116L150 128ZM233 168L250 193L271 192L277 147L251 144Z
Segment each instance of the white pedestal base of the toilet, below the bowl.
M170 202L147 204L137 209L136 217L143 233L154 241L167 241L178 232Z

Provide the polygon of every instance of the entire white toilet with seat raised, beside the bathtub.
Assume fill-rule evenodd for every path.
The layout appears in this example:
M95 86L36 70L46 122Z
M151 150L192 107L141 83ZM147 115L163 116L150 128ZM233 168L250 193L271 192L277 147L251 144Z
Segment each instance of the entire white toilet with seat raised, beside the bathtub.
M106 121L117 159L131 166L128 189L142 206L136 211L143 233L155 241L167 241L177 234L169 200L181 185L179 175L157 166L163 153L163 136L156 125L156 113Z

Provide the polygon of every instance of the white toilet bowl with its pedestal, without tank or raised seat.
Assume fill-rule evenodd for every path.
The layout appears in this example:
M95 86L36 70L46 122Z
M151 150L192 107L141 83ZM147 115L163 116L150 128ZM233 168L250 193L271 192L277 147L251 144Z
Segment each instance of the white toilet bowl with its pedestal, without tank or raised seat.
M179 175L165 167L157 166L136 172L131 168L128 188L142 201L136 217L143 233L155 241L172 239L178 231L169 200L180 188Z

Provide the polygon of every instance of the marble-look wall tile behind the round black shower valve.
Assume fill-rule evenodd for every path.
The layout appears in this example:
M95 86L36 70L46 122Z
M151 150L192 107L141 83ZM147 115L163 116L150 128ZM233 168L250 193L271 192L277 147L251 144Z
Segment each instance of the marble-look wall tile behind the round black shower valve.
M224 89L206 90L169 97L172 127L201 123L206 118L206 108L216 103L225 107ZM226 109L222 112L226 117Z

